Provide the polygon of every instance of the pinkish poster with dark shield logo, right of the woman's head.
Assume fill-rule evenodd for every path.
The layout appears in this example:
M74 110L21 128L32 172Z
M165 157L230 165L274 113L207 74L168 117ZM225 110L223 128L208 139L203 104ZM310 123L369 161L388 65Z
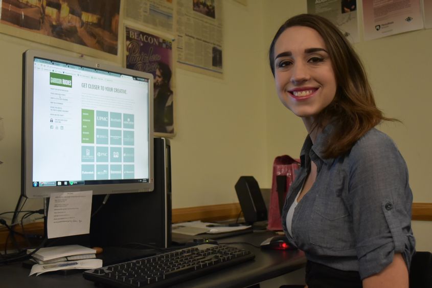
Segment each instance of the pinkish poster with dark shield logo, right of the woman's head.
M365 40L423 28L420 0L363 0Z

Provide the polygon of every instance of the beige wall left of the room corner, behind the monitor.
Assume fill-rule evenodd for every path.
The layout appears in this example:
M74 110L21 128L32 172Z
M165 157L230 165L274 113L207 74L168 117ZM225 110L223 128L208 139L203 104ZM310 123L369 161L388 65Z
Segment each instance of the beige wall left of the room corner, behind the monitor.
M261 2L245 7L223 1L223 18L223 79L176 70L173 208L238 202L234 185L241 175L269 186ZM21 54L30 48L78 56L0 34L0 116L6 130L0 141L0 212L15 208L20 191ZM122 57L113 63L121 65ZM26 204L40 207L41 200Z

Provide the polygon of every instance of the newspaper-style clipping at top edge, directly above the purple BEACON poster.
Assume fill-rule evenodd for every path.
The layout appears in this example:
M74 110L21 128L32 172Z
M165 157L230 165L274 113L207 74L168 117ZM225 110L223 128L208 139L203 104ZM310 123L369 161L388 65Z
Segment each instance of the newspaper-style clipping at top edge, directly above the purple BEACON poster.
M125 18L146 27L170 32L173 31L172 0L126 0Z

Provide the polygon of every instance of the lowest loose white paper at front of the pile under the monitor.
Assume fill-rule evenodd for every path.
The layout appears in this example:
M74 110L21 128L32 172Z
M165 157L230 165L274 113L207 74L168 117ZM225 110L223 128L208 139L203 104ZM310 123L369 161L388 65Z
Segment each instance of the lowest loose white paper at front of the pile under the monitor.
M34 264L29 276L36 274L39 276L42 273L67 270L67 269L96 269L102 267L102 259L85 259L77 261L65 261L52 264Z

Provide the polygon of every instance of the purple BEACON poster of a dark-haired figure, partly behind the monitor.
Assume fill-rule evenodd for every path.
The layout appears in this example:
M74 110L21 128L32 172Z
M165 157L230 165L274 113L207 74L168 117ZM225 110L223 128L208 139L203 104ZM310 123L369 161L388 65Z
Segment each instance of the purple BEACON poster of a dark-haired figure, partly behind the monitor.
M172 41L126 26L126 68L153 74L156 136L174 136Z

